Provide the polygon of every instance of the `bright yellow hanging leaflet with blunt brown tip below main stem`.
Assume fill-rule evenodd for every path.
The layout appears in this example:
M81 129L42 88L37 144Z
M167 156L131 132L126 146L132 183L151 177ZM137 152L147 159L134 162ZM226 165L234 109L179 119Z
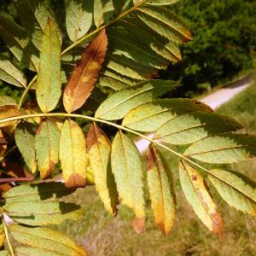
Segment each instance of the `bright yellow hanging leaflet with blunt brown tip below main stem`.
M60 160L66 186L84 187L88 166L86 143L82 129L71 119L61 129Z

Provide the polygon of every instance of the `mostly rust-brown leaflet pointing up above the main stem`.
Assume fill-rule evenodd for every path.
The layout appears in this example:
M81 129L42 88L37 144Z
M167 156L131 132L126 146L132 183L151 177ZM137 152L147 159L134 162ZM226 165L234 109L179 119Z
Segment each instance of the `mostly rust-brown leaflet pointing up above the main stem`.
M107 45L106 31L102 30L84 50L81 61L74 67L64 90L63 104L67 113L82 107L90 96L102 67Z

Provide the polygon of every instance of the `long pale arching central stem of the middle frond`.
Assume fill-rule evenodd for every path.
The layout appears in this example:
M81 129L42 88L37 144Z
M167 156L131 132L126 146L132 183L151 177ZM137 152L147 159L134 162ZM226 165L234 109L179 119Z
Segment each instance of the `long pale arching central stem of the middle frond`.
M86 119L86 120L90 120L90 121L95 121L95 122L99 122L102 124L106 124L106 125L111 125L117 129L123 130L123 131L128 131L131 132L132 134L135 134L139 137L143 137L144 139L146 139L148 142L150 143L154 143L155 145L160 146L161 148L165 148L166 150L170 151L172 154L176 154L178 157L180 157L183 160L188 161L189 163L193 164L194 166L197 166L199 168L201 168L201 170L208 172L208 170L195 163L193 160L190 160L189 158L187 158L186 156L183 156L183 154L179 154L177 153L175 150L173 150L172 148L167 147L164 144L158 143L157 141L155 141L154 139L151 139L145 135L143 135L140 132L137 131L133 131L125 126L122 125L117 125L114 124L110 121L104 120L104 119L97 119L97 118L93 118L91 116L87 116L87 115L83 115L83 114L77 114L77 113L32 113L32 114L26 114L26 115L20 115L20 116L15 116L15 117L11 117L11 118L7 118L7 119L0 119L0 124L9 122L9 121L16 121L16 120L21 120L21 119L30 119L30 118L37 118L37 117L66 117L66 118L79 118L79 119Z

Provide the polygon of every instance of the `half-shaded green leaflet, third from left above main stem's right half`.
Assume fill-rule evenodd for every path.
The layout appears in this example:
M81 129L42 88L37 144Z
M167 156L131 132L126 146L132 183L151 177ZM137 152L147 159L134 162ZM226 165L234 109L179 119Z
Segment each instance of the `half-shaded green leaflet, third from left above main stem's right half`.
M156 131L154 138L165 143L189 144L204 137L227 131L237 131L243 126L228 116L217 113L193 112L167 121Z

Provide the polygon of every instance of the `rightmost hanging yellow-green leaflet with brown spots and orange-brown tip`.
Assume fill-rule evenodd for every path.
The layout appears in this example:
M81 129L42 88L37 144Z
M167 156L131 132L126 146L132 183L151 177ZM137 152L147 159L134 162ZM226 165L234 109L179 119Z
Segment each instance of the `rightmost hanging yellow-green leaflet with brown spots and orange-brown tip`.
M203 177L183 161L179 164L179 179L184 195L202 223L218 236L222 235L222 218L207 191Z

